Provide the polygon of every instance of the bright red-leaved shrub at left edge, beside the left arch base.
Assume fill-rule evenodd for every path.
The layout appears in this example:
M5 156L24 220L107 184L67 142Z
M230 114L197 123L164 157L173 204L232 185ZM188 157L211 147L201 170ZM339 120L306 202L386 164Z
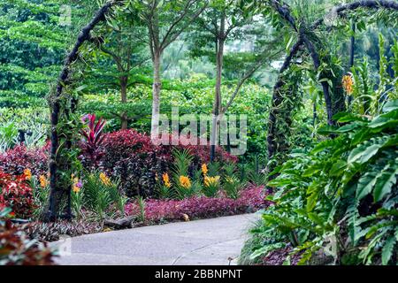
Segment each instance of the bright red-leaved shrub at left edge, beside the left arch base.
M30 218L34 212L32 188L27 183L27 176L11 175L0 171L0 187L2 197L0 207L11 207L18 218Z

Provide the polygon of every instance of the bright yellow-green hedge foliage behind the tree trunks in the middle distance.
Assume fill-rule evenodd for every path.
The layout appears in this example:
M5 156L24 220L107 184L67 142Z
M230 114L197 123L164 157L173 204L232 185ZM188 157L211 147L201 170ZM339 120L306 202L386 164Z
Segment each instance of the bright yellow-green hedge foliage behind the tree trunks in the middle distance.
M115 114L126 112L130 118L129 127L149 133L152 105L152 88L142 78L131 78L139 83L129 88L127 103L120 103L119 93L86 94L82 97L79 111L96 113L107 120L107 131L120 128L119 117ZM225 97L233 94L234 81L226 81L222 86ZM212 111L214 81L203 75L193 74L188 80L165 80L162 89L161 113L171 116L172 107L179 107L180 116L185 114L209 115ZM267 113L271 96L267 88L248 82L241 88L227 114L248 116L248 151L244 161L249 161L256 153L265 157Z

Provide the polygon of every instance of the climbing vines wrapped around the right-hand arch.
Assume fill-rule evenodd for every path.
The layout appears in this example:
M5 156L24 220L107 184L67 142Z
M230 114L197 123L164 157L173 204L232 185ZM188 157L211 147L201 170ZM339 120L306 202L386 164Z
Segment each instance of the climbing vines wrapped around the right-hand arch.
M250 1L249 1L250 2ZM252 2L252 1L251 1ZM256 2L256 1L255 1ZM392 11L390 14L383 13L382 11L389 10ZM286 151L286 137L277 134L282 132L283 128L278 128L278 117L279 107L283 104L284 96L281 91L281 87L284 85L284 73L288 72L290 66L295 63L295 57L302 50L307 50L307 55L310 56L313 64L312 72L315 72L318 76L318 82L322 88L325 100L325 111L327 113L327 123L330 126L335 125L333 116L346 109L346 97L341 85L342 75L344 74L342 70L339 70L338 65L334 65L335 61L333 57L330 57L330 52L327 49L327 37L325 39L320 39L318 32L320 34L328 34L333 31L334 28L330 25L325 25L325 19L331 16L333 21L337 23L340 19L349 19L349 17L358 11L358 14L365 14L364 11L369 11L377 14L377 20L388 21L388 19L393 19L398 11L398 4L392 1L357 1L351 4L341 4L333 7L322 18L315 20L313 23L307 23L304 19L295 19L293 16L293 11L290 6L283 1L279 0L269 0L264 2L264 13L271 15L272 22L276 27L287 26L292 29L292 32L297 34L296 43L287 55L280 71L279 78L273 89L273 99L272 99L272 110L270 112L269 119L269 132L268 132L268 157L270 160L278 159L278 163L271 163L268 171L272 172L276 165L282 164L286 159L275 158L279 155L279 149L281 151ZM279 21L276 18L279 17ZM302 57L302 60L305 58ZM287 94L288 95L288 92ZM292 107L297 107L297 104L287 104ZM286 113L291 113L293 110L285 111ZM282 117L281 119L286 119L287 121L291 117ZM283 155L282 155L283 156ZM272 179L272 178L271 178Z

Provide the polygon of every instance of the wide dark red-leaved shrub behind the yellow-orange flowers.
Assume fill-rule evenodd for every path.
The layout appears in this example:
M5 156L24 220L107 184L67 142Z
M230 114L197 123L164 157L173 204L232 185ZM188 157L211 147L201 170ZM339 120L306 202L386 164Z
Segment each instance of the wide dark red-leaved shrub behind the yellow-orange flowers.
M195 169L210 159L208 146L155 146L148 135L134 130L106 134L103 145L105 150L99 168L108 175L119 178L127 196L155 195L157 176L171 169L173 148L186 149L192 155L188 168L191 176ZM236 162L237 158L218 148L217 160Z

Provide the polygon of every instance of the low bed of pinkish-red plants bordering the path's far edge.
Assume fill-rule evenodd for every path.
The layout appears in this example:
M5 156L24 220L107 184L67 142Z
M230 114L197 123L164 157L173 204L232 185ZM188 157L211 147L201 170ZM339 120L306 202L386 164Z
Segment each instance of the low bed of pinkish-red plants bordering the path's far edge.
M126 218L128 224L124 228L140 226L156 226L171 222L190 221L206 218L218 218L225 216L253 213L262 210L270 203L265 201L264 187L250 185L241 191L239 198L233 200L220 194L219 197L193 196L183 200L157 200L145 201L145 209L142 215L140 205L137 202L126 204ZM57 221L56 223L32 222L21 226L32 239L39 241L58 241L60 236L68 235L76 237L89 233L103 233L117 230L115 226L103 225L95 218L90 217L86 211L84 218L72 221ZM144 218L142 220L142 217ZM120 219L120 218L119 218ZM116 220L108 220L117 222Z

